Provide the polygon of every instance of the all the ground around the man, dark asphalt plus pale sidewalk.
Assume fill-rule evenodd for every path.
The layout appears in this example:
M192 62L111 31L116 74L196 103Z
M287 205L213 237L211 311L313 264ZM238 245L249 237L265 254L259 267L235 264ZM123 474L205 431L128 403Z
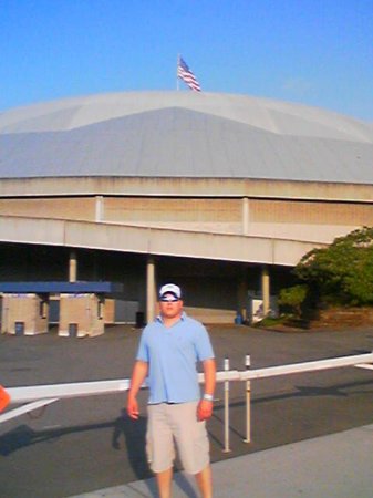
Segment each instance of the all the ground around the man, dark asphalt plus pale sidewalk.
M279 333L209 328L218 367L259 369L369 353L371 328ZM0 378L7 387L126 378L139 331L110 328L92 339L0 335ZM245 386L230 385L230 453L224 449L222 385L208 423L215 497L373 498L373 372L345 367L252 382L251 439ZM147 393L135 424L121 393L53 403L0 424L0 496L155 497L144 439ZM180 469L176 461L176 469ZM371 479L371 480L370 480ZM194 480L175 474L174 498L197 497Z

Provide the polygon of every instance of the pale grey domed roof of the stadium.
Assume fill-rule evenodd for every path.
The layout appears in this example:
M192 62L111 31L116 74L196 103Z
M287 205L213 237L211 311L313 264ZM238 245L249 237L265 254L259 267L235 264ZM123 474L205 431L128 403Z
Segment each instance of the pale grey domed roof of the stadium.
M280 101L125 92L0 114L0 177L271 178L373 184L373 127Z

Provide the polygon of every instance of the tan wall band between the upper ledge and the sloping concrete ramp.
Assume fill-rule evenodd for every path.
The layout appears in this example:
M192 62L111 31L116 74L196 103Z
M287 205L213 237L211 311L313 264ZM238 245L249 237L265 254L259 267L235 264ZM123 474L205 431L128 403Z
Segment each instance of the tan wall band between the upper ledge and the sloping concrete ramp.
M99 209L99 207L100 209ZM142 227L250 235L266 224L291 237L297 226L360 227L373 222L373 201L258 198L60 197L0 199L0 215L116 222ZM97 217L100 219L97 219ZM288 227L289 226L289 227Z

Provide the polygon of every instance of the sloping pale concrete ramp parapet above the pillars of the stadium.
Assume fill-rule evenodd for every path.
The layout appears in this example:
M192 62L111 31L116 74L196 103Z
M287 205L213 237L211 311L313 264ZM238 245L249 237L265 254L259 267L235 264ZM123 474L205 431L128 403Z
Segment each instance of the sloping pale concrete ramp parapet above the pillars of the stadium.
M246 263L296 266L327 243L278 237L211 234L168 228L17 216L0 217L0 241L86 248Z

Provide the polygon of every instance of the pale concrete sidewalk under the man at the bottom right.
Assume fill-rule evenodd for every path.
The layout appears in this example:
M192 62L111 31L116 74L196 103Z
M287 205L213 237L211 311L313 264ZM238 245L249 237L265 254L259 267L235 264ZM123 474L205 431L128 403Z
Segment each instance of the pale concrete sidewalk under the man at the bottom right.
M213 464L215 498L372 498L373 425ZM155 498L154 479L71 498ZM197 498L179 473L174 498Z

